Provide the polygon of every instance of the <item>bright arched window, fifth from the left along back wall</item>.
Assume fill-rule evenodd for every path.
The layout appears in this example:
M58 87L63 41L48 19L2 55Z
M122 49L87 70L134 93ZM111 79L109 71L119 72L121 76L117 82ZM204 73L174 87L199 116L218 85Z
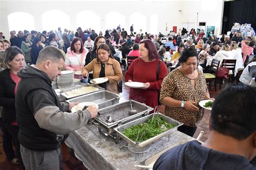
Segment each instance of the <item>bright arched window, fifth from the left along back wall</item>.
M139 32L142 29L142 33L146 31L147 18L139 12L134 12L130 15L130 25L133 24L134 32Z

